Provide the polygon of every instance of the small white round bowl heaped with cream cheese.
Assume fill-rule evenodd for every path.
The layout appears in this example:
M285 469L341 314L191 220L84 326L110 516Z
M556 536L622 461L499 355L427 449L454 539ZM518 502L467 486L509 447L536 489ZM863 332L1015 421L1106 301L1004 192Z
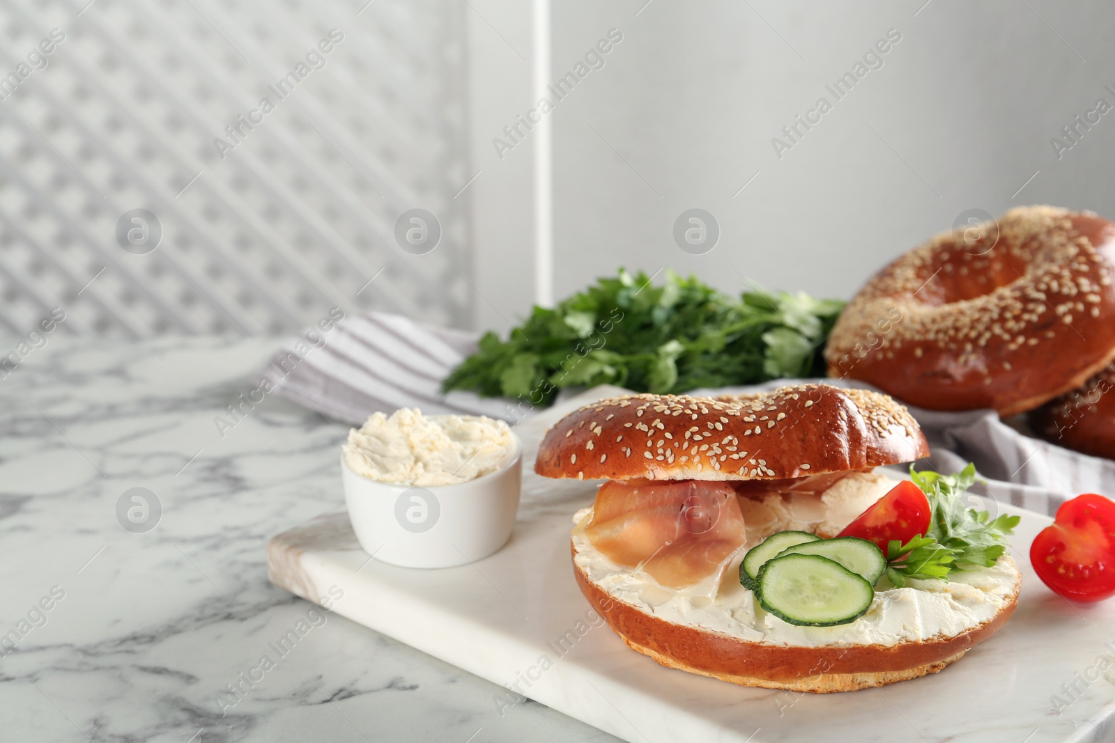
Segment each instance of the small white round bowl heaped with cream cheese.
M522 444L484 416L374 413L349 431L341 479L352 530L376 559L452 567L495 553L518 509Z

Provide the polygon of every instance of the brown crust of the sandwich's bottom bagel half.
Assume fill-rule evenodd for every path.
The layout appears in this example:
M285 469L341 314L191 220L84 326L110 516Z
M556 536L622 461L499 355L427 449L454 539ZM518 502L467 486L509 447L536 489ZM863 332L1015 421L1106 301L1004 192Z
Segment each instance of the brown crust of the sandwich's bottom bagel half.
M851 692L937 673L993 635L1018 602L1019 581L987 622L940 639L893 645L794 646L754 643L697 626L667 622L624 603L593 583L576 565L578 585L628 647L670 668L743 686L795 692Z

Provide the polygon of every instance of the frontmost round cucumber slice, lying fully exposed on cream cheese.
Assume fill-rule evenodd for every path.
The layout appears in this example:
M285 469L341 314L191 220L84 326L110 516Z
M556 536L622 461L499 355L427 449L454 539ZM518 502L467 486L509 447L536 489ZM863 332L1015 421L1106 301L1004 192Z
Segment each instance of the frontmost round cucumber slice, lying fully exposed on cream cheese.
M859 619L871 608L874 587L820 555L776 557L759 573L759 604L789 624L830 627Z

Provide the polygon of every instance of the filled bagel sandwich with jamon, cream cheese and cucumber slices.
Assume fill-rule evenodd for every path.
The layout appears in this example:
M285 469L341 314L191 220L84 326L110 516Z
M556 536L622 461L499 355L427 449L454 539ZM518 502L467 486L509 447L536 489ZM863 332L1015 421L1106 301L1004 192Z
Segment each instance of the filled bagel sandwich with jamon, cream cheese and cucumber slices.
M573 571L630 648L744 686L823 693L939 672L1015 608L1020 574L1005 553L900 586L901 563L866 576L875 567L857 560L883 553L836 538L900 483L876 468L928 453L888 395L804 384L601 400L546 432L534 470L603 480L574 515Z

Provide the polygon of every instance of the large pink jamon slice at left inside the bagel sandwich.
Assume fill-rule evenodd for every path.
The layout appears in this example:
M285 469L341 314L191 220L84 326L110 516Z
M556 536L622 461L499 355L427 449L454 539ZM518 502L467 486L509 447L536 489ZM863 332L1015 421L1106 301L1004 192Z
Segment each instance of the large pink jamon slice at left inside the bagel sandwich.
M736 491L704 480L610 480L584 532L608 559L670 588L723 571L746 537Z

